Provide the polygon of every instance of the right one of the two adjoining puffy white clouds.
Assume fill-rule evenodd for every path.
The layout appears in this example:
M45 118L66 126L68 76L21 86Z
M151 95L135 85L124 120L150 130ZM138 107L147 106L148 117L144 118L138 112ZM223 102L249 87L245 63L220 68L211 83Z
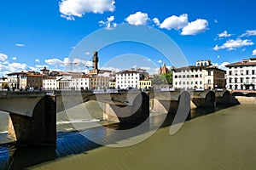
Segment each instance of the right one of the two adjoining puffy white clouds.
M188 26L183 27L182 35L196 35L201 32L207 31L208 21L198 19L190 22Z

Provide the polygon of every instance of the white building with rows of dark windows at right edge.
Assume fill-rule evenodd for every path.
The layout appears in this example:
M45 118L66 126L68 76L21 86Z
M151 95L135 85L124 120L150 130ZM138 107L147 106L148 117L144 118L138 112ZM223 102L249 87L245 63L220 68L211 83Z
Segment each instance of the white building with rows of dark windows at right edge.
M232 90L256 89L256 58L242 59L226 67L227 88Z

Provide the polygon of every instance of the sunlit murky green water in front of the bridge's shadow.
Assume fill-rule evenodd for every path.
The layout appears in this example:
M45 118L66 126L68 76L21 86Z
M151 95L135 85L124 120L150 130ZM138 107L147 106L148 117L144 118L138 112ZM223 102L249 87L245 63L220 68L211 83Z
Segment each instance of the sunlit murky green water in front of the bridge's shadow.
M183 123L173 135L169 130L161 127L139 144L100 146L27 168L256 169L256 105L223 108Z

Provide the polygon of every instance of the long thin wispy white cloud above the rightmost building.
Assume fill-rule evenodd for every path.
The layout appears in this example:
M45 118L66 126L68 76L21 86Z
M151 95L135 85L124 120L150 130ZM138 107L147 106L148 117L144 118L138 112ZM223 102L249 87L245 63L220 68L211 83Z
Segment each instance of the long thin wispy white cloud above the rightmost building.
M237 38L236 40L230 39L227 42L225 42L222 46L216 45L214 48L212 48L215 51L218 51L219 49L228 49L228 50L234 50L236 48L241 48L244 46L250 46L254 43L251 40L245 39L241 40L240 38Z

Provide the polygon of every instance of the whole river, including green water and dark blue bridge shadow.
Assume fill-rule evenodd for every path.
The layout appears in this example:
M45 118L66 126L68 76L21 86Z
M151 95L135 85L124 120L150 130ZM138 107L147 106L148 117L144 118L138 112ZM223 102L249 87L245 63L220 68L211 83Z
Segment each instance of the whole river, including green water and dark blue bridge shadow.
M93 111L97 112L95 108ZM211 113L208 114L209 112ZM0 115L8 117L4 114ZM65 117L57 116L56 148L1 144L0 169L27 167L42 170L161 170L255 169L256 167L256 105L222 107L213 112L193 110L193 118L183 123L177 133L169 134L170 121L166 121L165 126L160 127L143 142L118 148L90 142L78 132L67 132L72 130L73 126L65 122L67 118ZM158 117L152 116L152 119ZM101 117L94 118L92 122L101 119ZM1 122L3 126L2 123L3 121ZM90 122L86 123L90 124ZM114 124L111 128L115 127L119 128L119 125ZM2 130L4 131L3 127ZM97 127L90 128L85 133L97 136L106 134ZM132 138L123 140L129 142Z

